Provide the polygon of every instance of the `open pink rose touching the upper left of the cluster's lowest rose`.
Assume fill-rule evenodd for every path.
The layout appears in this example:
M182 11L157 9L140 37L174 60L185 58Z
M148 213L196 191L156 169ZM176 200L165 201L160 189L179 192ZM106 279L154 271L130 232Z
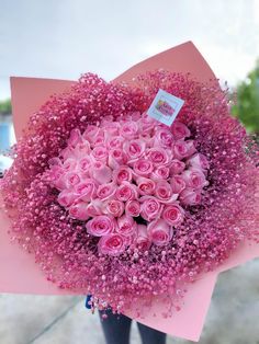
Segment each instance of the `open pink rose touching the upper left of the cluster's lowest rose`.
M106 236L114 231L115 219L108 215L98 215L86 225L87 232L94 237Z

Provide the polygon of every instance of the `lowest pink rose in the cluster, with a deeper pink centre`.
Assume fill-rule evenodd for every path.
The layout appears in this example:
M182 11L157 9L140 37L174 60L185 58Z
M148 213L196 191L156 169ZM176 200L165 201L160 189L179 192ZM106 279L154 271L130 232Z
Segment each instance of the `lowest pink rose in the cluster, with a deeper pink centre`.
M123 253L125 249L125 238L119 233L103 236L98 242L98 252L101 254L116 256Z

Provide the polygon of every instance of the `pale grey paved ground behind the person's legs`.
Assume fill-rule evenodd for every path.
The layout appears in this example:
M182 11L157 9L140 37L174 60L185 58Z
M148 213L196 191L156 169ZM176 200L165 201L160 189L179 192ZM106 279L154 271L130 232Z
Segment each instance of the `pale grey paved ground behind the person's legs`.
M82 297L0 295L0 344L104 344ZM200 344L259 344L259 260L219 275ZM168 337L167 344L193 343ZM123 344L123 343L122 343ZM132 344L140 344L136 324Z

